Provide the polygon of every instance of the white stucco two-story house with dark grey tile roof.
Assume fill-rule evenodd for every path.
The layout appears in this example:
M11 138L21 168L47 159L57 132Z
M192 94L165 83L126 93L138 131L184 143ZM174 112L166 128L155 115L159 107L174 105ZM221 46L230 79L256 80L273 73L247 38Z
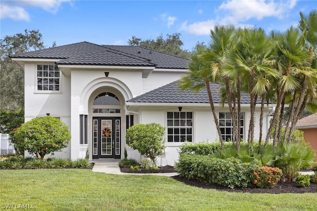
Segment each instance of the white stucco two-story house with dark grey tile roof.
M177 80L189 60L155 50L124 45L78 42L11 55L25 72L25 121L51 115L71 130L69 147L56 157L89 160L139 160L125 143L126 128L156 122L166 127L166 149L160 165L174 165L184 141L216 141L218 135L207 91L181 91ZM231 118L212 84L214 103L224 139L232 139ZM242 97L241 137L247 138L250 100ZM269 112L264 109L264 136ZM260 106L256 108L255 138ZM111 135L109 135L111 131ZM104 133L104 136L103 136ZM105 137L108 134L108 137Z

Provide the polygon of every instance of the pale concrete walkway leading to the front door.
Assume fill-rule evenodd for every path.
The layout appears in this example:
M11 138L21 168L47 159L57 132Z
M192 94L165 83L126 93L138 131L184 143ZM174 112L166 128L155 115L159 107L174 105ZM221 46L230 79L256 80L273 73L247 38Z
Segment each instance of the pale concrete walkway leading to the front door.
M115 161L94 162L93 170L95 172L121 174L121 175L158 175L158 176L175 176L178 173L124 173L120 171L119 163Z

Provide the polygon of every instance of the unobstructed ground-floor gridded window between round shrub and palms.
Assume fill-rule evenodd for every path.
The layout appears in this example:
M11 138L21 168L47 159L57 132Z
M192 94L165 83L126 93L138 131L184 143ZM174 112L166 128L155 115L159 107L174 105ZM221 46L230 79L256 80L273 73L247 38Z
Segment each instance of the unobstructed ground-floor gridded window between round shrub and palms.
M167 142L193 140L193 112L167 112Z

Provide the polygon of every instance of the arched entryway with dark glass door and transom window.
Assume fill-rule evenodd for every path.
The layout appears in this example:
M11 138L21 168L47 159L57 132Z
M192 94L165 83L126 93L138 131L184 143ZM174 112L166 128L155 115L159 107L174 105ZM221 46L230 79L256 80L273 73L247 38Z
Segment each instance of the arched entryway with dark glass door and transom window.
M103 88L90 100L92 121L92 159L121 158L124 98L117 90Z

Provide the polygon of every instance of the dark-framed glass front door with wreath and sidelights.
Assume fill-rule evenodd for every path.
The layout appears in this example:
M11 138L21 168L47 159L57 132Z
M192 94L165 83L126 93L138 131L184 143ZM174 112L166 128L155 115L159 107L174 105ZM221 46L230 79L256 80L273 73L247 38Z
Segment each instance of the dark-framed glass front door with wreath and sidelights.
M93 117L93 159L120 159L120 117Z

